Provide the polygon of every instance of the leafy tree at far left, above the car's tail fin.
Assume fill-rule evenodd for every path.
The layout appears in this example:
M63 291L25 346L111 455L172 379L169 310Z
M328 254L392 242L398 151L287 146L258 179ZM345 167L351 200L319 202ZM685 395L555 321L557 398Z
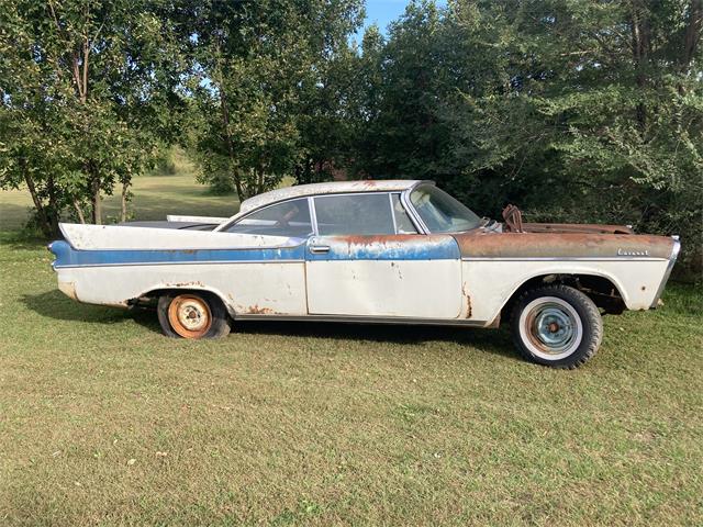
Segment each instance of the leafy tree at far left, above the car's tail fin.
M27 187L47 236L68 208L101 223L116 183L126 214L177 83L168 20L126 0L0 5L0 186Z

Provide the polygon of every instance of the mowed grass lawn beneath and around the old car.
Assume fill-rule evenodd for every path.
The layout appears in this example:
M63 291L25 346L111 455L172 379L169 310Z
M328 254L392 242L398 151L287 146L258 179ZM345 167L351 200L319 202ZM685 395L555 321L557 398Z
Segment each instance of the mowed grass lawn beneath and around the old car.
M134 192L140 218L237 206L189 175ZM2 526L703 524L700 289L606 317L577 371L504 329L176 340L59 293L27 205L0 193Z

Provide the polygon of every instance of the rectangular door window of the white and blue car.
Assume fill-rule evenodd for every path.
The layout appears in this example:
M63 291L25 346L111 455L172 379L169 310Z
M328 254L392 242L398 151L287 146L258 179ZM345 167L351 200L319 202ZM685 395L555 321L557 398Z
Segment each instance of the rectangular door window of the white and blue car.
M315 198L317 232L337 234L395 234L388 194L346 194Z

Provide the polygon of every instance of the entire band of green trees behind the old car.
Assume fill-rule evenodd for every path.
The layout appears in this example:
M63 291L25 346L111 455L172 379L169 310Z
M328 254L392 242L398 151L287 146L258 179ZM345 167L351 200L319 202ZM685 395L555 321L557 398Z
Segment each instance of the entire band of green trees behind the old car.
M119 186L126 216L180 142L241 199L427 178L482 214L681 234L700 268L702 0L416 0L360 47L361 0L253 5L0 0L0 187L46 233Z

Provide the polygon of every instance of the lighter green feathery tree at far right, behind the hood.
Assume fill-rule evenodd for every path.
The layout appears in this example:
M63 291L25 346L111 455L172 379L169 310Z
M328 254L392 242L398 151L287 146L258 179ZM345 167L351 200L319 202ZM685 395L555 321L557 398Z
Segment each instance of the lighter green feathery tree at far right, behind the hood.
M453 18L469 42L498 21L495 60L507 57L510 81L465 93L453 112L468 116L465 139L475 134L467 173L492 188L507 175L535 218L681 234L685 258L700 265L701 2L478 5L456 2Z

